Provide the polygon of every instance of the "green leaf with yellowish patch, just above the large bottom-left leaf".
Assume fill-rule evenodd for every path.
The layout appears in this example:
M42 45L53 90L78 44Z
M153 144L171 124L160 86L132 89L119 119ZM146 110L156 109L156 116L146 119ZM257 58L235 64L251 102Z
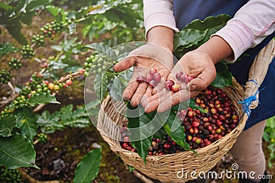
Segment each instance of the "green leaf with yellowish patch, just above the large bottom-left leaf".
M17 127L20 131L25 134L30 140L33 140L34 136L37 134L37 119L38 116L34 114L32 109L29 107L22 107L15 111L15 116L17 116Z

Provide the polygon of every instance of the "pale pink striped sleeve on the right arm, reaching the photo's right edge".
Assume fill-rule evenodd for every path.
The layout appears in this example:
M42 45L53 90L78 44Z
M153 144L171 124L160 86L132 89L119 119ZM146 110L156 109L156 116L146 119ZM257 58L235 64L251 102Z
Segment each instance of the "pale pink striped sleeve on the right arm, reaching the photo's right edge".
M259 45L275 30L275 1L250 0L224 28L212 36L221 36L232 47L234 57L225 59L234 62L251 47Z

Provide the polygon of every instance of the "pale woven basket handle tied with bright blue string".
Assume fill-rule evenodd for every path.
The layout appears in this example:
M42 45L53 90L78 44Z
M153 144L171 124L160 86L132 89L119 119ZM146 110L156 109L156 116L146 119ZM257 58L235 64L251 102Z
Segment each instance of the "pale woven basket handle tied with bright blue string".
M265 79L267 69L272 62L275 55L275 41L272 39L254 59L250 72L248 74L248 81L245 84L245 100L243 109L245 113L250 116L250 110L255 109L259 105L259 87Z

